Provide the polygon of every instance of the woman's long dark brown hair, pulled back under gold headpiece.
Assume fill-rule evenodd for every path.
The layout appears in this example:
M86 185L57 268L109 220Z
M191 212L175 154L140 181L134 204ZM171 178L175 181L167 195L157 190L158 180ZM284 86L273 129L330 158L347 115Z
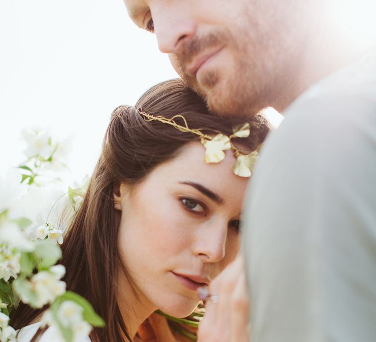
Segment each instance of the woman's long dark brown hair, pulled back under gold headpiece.
M106 322L104 328L92 331L90 338L94 342L132 341L117 301L118 270L122 265L117 249L120 214L114 209L114 184L140 184L156 166L177 156L186 143L199 140L195 134L159 121L146 122L139 111L166 118L182 114L190 128L211 128L225 134L231 134L232 126L245 121L208 112L205 103L179 79L153 86L135 107L120 106L113 111L89 188L61 246L67 290L89 300ZM251 134L241 143L255 150L270 126L261 115L247 121ZM20 303L11 314L10 324L22 328L44 309L34 310Z

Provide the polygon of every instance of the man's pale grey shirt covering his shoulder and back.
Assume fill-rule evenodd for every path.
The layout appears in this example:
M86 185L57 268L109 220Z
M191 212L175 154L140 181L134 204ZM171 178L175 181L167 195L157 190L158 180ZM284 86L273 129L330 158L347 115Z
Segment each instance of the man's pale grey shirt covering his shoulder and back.
M252 342L376 341L376 49L312 86L245 204Z

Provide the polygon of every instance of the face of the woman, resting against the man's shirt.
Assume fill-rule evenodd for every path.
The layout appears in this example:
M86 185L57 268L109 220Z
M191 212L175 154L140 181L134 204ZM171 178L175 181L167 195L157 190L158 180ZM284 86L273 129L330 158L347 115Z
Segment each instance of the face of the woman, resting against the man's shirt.
M217 164L205 163L204 153L199 142L188 143L131 194L121 185L115 195L118 250L129 281L141 302L177 317L190 314L197 288L234 260L240 246L247 179L233 173L232 151Z

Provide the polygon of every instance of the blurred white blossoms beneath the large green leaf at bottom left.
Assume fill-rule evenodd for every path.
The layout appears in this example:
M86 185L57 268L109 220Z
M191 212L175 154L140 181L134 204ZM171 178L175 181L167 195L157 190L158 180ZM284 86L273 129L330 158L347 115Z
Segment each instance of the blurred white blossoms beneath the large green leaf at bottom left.
M60 341L64 342L60 334L59 324L63 329L69 329L73 335L72 341L82 341L82 337L88 336L92 331L92 326L83 320L83 308L72 300L65 300L60 305L56 312L53 314L51 310L47 310L43 314L42 327L48 325L49 329L55 330L54 336L60 336Z

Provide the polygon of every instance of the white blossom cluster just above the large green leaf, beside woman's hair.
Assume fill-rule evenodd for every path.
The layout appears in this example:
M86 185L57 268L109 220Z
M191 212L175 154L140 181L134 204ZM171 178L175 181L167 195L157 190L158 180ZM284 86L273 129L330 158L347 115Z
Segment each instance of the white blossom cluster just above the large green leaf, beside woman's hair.
M63 265L51 266L48 271L38 272L23 283L24 290L19 291L21 300L36 308L53 302L65 293L66 283L60 279L65 274Z

